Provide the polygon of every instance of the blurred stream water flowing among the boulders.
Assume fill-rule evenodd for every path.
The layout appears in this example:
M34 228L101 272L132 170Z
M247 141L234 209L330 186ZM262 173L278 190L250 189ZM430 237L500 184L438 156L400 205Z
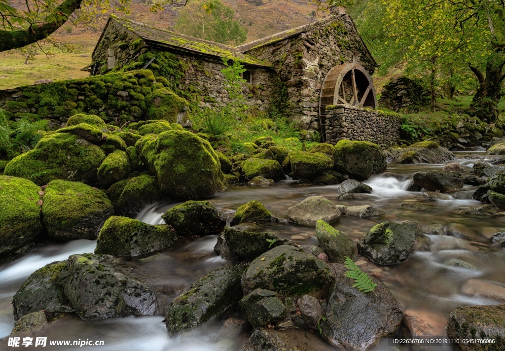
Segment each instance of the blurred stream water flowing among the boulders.
M456 153L458 160L472 166L484 156L482 150ZM372 186L369 198L363 200L339 200L337 185L314 186L297 184L292 180L270 187L232 186L210 199L230 214L250 200L258 200L274 215L285 218L287 209L307 196L322 195L335 204L346 206L372 205L385 212L381 217L359 218L342 216L335 227L350 237L363 239L371 227L385 221L418 221L424 229L434 224L443 226L446 235L428 235L431 252L413 251L409 260L396 266L377 266L359 257L358 264L371 275L382 280L403 305L408 314L421 316L431 325L432 335L443 336L447 315L457 307L468 305L493 305L500 301L489 294L468 295L462 286L471 279L487 280L505 286L505 255L490 244L489 238L505 229L503 213L494 210L489 216L471 216L459 211L481 204L471 198L475 186L447 194L438 200L430 200L420 192L406 188L413 172L441 170L443 165L389 164L385 173L374 176L365 183ZM415 202L423 209L400 207L402 203ZM158 203L144 209L137 219L149 223L163 223L161 219L169 208L179 203ZM317 244L314 228L291 223L258 223L243 226L252 231L269 231L282 238L291 238L305 249ZM183 241L166 252L139 260L122 260L122 268L145 283L156 287L164 296L160 300L171 301L199 276L227 262L216 256L213 247L216 236ZM47 263L64 260L76 253L92 253L95 241L75 240L67 243L39 244L28 255L16 262L0 266L0 338L9 335L14 326L11 300L13 294L34 270ZM164 310L159 303L158 311ZM53 322L39 332L48 340L104 340L104 346L84 346L88 350L238 350L247 334L240 329L223 328L222 321L212 320L183 336L170 337L163 317L129 317L100 322L85 322L70 315ZM41 334L43 332L43 335ZM402 329L400 333L404 333ZM0 339L0 349L7 344ZM49 346L45 349L78 349L70 346ZM30 348L30 347L28 347ZM392 349L383 340L378 349Z

